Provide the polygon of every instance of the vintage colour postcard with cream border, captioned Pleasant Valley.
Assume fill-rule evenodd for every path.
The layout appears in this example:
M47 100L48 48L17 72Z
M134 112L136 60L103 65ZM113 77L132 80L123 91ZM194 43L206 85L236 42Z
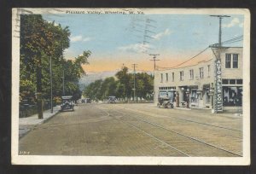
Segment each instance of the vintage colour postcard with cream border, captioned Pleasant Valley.
M13 165L250 165L248 9L12 14Z

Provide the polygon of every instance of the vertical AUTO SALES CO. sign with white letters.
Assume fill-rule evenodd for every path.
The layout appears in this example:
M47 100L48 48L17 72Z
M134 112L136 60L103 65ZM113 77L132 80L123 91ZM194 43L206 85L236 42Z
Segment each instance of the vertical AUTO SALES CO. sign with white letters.
M215 111L223 112L223 97L222 97L222 78L221 78L221 61L216 61L216 77L215 77Z

